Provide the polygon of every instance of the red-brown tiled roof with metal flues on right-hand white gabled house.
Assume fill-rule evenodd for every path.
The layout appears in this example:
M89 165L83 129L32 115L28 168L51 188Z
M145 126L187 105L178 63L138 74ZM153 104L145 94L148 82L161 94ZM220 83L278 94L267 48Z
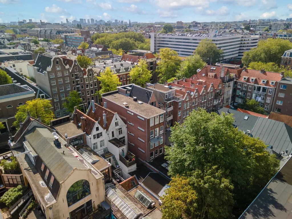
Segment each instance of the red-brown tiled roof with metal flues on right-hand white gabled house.
M109 129L112 119L114 118L114 112L106 109L96 103L94 103L95 110L92 112L92 105L89 106L87 110L87 116L90 117L93 121L98 121L98 124L105 130ZM104 126L103 123L103 112L105 112L105 117L107 119L107 124Z

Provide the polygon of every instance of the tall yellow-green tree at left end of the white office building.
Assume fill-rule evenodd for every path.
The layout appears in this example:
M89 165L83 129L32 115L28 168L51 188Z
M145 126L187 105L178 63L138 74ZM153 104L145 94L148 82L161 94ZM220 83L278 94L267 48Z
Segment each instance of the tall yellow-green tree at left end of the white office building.
M168 79L175 77L181 59L178 57L178 53L170 48L159 49L159 58L160 62L157 64L156 71L159 74L160 83L164 84Z

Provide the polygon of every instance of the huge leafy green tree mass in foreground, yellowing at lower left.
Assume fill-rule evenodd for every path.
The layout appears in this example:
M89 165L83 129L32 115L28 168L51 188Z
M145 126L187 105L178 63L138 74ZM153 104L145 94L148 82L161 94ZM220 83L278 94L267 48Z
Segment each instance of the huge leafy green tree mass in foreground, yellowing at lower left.
M174 146L166 148L169 174L181 182L187 179L188 191L197 198L192 199L194 207L182 205L179 215L168 218L238 218L277 173L279 160L265 150L265 143L234 128L233 122L232 115L199 109L173 127ZM169 191L173 190L168 189L166 196ZM162 205L167 218L165 212L173 208L169 203L188 199L170 196L163 200L168 201Z

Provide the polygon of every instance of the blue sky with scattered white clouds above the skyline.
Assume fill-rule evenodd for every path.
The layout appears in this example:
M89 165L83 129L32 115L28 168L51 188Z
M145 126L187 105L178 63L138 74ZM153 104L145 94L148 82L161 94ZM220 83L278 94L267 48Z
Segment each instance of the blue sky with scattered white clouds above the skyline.
M292 17L291 0L0 0L0 23L79 18L138 22L234 21Z

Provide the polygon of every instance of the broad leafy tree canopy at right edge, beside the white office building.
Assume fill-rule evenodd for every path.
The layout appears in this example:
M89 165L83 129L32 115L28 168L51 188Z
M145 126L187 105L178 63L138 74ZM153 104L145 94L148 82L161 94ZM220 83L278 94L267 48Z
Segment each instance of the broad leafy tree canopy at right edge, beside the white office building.
M274 62L279 65L281 56L291 48L292 43L289 40L280 38L261 40L258 42L257 48L243 53L242 63L247 67L251 62Z

